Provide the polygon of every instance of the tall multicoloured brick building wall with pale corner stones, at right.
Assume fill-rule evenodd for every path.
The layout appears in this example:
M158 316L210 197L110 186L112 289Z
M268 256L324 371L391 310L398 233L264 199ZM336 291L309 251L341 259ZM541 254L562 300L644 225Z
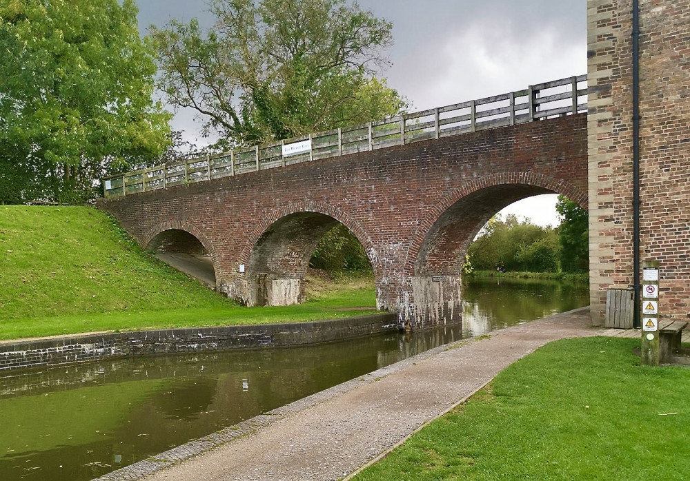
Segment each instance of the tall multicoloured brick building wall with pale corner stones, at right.
M589 0L591 308L633 285L632 1ZM640 257L663 318L690 312L690 1L640 1Z

